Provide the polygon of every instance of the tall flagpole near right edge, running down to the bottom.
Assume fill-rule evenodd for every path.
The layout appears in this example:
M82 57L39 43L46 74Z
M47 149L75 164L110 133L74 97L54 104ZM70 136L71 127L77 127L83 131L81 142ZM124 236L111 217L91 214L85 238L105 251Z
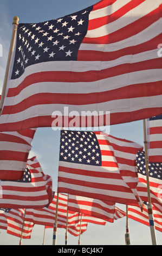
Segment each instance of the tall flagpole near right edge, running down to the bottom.
M154 227L154 220L153 220L153 211L152 211L152 204L151 204L151 194L150 194L150 182L149 182L149 172L148 172L148 154L147 154L147 136L146 136L146 120L143 120L144 124L144 145L145 145L145 165L146 165L146 180L147 180L147 195L148 195L148 219L150 223L150 231L151 231L151 238L152 238L152 245L157 245L157 239L155 235L155 227Z

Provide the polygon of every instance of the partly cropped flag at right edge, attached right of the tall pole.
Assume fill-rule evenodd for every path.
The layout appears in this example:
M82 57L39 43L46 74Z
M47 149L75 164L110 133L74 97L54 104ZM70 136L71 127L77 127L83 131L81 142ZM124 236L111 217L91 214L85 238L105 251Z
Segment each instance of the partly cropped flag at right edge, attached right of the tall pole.
M162 114L147 119L148 161L162 162Z

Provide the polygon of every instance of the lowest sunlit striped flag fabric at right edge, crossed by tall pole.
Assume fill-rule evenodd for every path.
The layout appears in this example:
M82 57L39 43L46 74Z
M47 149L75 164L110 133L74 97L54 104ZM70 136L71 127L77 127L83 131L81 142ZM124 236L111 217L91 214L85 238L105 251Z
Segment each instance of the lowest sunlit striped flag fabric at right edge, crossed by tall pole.
M162 214L157 208L155 208L154 205L152 205L152 210L153 210L153 218L154 218L154 227L155 229L162 232ZM144 208L142 212L138 206L129 206L128 218L132 218L132 220L134 221L138 221L142 224L150 226L149 220L148 220L147 206L146 208Z

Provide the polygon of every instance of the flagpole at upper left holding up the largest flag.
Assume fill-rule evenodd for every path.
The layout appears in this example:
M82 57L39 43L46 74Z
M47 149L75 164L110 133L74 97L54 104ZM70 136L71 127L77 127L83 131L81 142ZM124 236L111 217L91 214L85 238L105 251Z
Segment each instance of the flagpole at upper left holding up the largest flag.
M9 54L8 54L8 60L7 60L7 67L5 69L3 89L2 89L2 95L1 95L1 101L0 101L0 115L1 115L1 112L2 112L2 107L3 107L4 97L5 97L5 91L6 91L6 88L7 88L7 81L8 81L8 76L9 76L9 69L10 69L12 52L14 51L18 20L19 20L19 18L17 16L14 16L13 22L12 22L13 28L12 28L10 48L9 48Z

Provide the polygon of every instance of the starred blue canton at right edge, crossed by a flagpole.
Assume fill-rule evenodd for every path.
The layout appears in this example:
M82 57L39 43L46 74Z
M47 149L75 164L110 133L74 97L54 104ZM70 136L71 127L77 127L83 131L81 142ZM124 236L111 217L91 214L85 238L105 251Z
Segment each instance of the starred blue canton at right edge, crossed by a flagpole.
M138 152L137 154L137 169L138 173L146 176L145 166L145 152ZM162 179L162 163L148 163L149 176L152 178Z

